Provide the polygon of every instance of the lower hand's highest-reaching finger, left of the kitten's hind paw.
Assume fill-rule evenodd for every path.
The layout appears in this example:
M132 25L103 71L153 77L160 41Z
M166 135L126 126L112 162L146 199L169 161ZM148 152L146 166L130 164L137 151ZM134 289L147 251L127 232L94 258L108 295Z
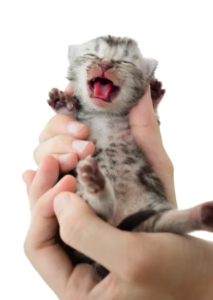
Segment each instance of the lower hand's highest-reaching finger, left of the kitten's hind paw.
M58 161L53 156L45 155L40 161L38 170L29 189L28 195L31 210L37 200L57 183L58 178Z

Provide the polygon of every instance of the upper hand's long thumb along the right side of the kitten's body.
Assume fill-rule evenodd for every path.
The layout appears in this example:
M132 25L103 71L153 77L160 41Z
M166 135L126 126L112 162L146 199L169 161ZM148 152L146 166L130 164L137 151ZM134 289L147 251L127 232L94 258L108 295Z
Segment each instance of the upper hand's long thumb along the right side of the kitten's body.
M129 123L136 142L164 182L169 200L176 206L173 164L163 146L153 109L150 86L139 103L130 111Z

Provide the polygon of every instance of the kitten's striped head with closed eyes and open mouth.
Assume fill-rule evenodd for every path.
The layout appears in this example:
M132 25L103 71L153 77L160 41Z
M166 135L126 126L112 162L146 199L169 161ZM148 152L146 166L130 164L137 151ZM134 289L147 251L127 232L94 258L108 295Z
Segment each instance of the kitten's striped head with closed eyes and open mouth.
M98 37L69 47L68 79L85 109L127 112L144 93L157 61L130 38Z

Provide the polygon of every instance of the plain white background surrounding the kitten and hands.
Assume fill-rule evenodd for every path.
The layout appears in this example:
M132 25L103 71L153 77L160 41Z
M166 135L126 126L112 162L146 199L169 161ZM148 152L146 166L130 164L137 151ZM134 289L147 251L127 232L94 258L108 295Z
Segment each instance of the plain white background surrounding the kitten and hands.
M56 299L28 262L29 225L22 173L54 115L48 91L67 84L67 46L112 34L135 38L166 95L161 132L175 168L179 208L213 200L211 1L1 2L1 291L6 299ZM140 3L140 4L139 4ZM194 235L213 240L213 234Z

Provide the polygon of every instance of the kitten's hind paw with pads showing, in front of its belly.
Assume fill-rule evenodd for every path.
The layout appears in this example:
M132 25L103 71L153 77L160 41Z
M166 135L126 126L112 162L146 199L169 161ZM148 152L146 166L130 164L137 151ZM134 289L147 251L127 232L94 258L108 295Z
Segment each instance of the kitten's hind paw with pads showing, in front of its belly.
M104 190L106 180L94 158L87 156L81 160L78 163L77 172L79 180L89 193L94 194Z

